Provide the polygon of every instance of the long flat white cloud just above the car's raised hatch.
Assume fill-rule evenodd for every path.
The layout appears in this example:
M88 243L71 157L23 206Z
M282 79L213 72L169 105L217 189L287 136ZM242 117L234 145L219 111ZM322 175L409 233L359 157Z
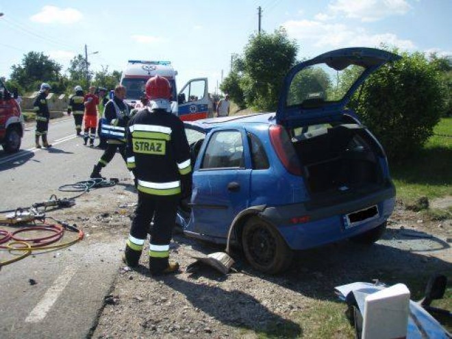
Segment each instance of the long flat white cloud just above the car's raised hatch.
M314 47L379 47L381 43L401 49L416 47L411 40L400 39L392 33L370 34L366 29L338 23L301 20L287 21L283 26L292 38L308 42Z

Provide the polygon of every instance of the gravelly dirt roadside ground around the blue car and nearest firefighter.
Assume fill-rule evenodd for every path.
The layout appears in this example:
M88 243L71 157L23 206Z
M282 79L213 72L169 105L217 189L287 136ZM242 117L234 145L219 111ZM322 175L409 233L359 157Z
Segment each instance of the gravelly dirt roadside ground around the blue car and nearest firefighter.
M82 227L84 241L126 240L134 203L136 193L126 181L92 190L55 215ZM380 279L404 282L419 296L431 273L451 276L451 237L451 219L440 226L398 203L384 238L372 247L340 242L303 251L289 271L273 277L254 271L239 251L238 273L223 276L203 266L186 272L192 255L223 248L175 236L171 258L181 264L181 273L150 277L145 252L138 269L122 266L93 337L353 338L334 286Z

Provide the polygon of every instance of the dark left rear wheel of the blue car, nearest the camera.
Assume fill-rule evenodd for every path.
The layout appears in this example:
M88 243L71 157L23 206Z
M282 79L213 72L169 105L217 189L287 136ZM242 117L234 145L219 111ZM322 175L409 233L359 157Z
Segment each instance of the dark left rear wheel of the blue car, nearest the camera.
M292 250L277 229L257 216L244 225L242 248L253 268L271 275L285 271L293 258Z

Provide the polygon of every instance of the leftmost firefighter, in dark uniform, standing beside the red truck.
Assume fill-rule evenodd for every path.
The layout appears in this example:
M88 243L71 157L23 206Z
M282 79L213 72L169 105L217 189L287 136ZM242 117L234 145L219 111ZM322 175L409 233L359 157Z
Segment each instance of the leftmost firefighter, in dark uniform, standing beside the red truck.
M40 149L41 145L39 143L39 138L42 137L42 146L48 148L52 145L47 142L47 130L49 129L49 105L47 105L47 95L51 87L49 84L43 82L40 86L39 95L34 99L33 110L36 112L36 148Z

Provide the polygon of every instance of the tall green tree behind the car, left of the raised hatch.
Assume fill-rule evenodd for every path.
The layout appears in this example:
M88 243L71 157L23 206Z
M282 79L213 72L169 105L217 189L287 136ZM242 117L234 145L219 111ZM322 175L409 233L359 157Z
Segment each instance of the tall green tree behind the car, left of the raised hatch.
M273 34L252 35L244 48L240 87L245 101L259 110L275 110L279 91L295 63L297 44L283 28Z

